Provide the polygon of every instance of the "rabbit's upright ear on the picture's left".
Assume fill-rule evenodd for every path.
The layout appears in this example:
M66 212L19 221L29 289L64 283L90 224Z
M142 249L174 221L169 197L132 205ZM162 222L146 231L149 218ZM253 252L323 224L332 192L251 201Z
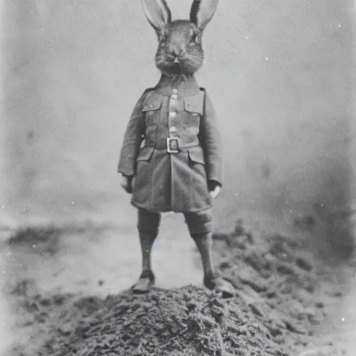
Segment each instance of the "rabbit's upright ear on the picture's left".
M149 24L157 32L171 22L172 15L165 0L141 0L141 4Z

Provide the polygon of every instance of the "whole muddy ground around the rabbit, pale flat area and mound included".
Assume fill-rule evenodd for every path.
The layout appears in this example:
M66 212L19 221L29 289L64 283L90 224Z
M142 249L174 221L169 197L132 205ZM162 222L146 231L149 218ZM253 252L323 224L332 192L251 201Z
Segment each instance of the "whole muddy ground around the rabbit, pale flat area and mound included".
M126 243L125 260L113 236L106 227L10 234L8 355L353 355L341 331L350 314L339 315L353 288L352 258L325 261L307 238L262 234L240 221L214 235L216 265L235 286L234 298L202 288L191 241L163 238L154 248L156 265L166 266L156 268L161 284L133 296L138 241ZM171 261L172 252L180 257Z

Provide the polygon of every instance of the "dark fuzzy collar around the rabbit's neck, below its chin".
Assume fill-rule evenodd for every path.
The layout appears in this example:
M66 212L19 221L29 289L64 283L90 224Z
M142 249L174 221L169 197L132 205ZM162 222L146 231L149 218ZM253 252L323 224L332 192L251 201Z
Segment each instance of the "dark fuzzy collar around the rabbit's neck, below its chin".
M168 77L161 76L159 83L154 87L161 95L172 95L172 90L177 89L180 96L196 95L200 88L194 76Z

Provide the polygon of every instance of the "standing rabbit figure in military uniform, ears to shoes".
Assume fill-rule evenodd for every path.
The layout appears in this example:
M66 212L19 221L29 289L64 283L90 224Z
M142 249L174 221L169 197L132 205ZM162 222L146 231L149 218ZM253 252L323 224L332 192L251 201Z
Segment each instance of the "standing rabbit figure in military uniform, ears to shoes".
M172 21L164 0L142 0L142 5L159 39L161 79L138 100L118 164L122 187L138 208L143 270L132 290L147 293L153 286L152 245L161 213L174 211L184 213L200 251L204 285L232 296L232 286L216 274L211 258L211 206L222 186L222 140L211 99L194 77L204 59L202 32L218 0L194 0L190 21Z

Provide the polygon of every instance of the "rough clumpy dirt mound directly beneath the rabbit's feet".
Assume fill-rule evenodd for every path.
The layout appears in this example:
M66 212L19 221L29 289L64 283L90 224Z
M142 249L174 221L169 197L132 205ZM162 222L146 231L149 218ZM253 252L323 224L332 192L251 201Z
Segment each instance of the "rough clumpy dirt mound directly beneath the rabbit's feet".
M55 330L47 325L51 337L31 355L287 355L244 300L223 300L195 286L82 298L73 307L81 315L56 318Z

